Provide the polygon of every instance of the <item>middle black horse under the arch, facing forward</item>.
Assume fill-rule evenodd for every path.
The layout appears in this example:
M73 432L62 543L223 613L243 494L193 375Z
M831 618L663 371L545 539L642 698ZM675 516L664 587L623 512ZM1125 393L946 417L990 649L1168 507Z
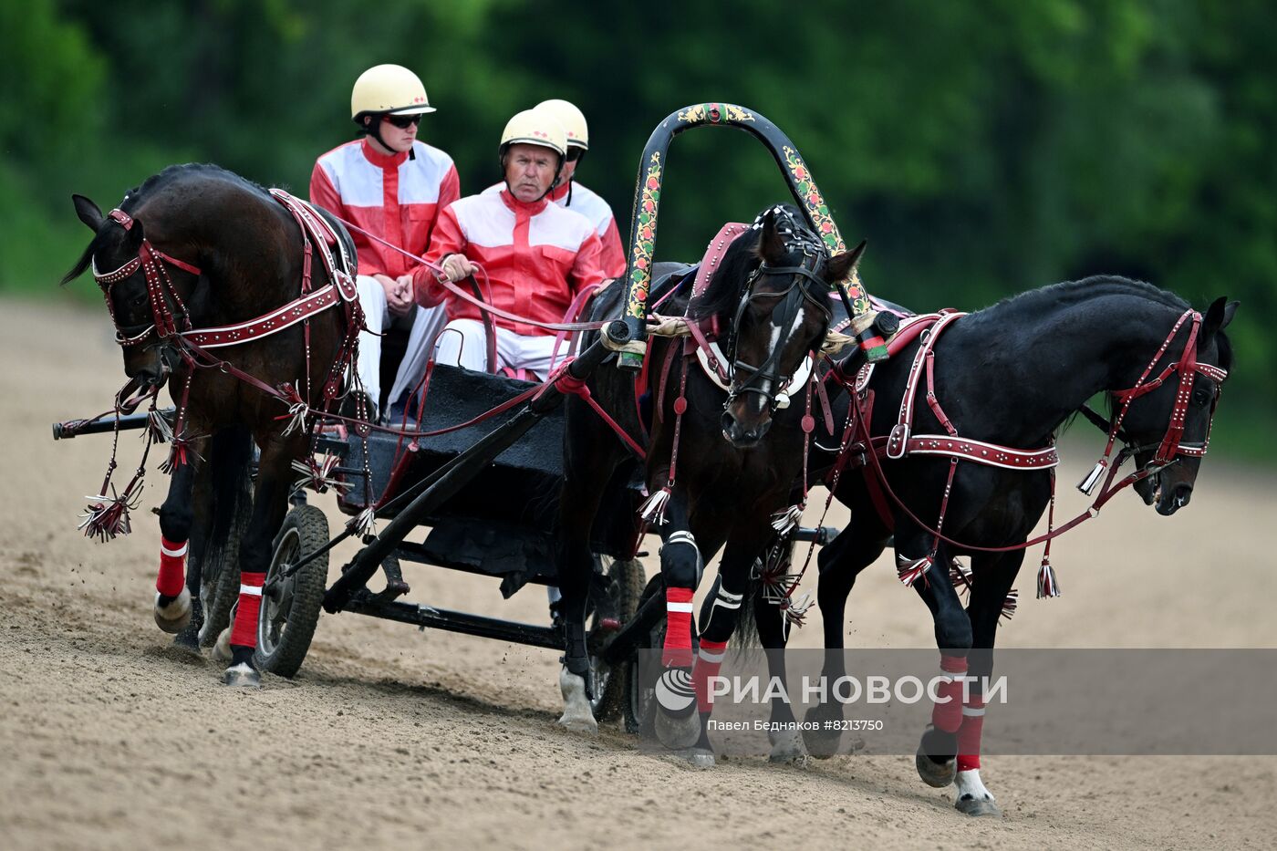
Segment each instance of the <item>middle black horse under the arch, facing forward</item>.
M820 238L792 206L759 215L752 227L728 240L704 288L674 291L660 304L684 316L691 337L653 337L647 351L651 429L645 480L651 498L644 516L661 537L668 629L664 677L681 704L661 707L656 732L672 747L693 747L693 762L709 754L692 682L692 594L705 562L724 548L722 588L700 636L701 659L727 645L746 593L755 557L785 524L796 482L802 479L810 432L815 354L829 330L829 296L863 252L829 256ZM713 252L711 247L711 252ZM709 261L709 256L706 258ZM623 288L613 282L590 308L591 319L621 314ZM654 299L659 295L654 291ZM706 365L718 364L722 369ZM806 372L805 372L806 371ZM710 377L714 372L716 379ZM595 371L590 396L628 434L642 433L632 373ZM806 402L805 402L806 397ZM805 419L807 431L805 431ZM589 404L567 401L564 484L559 502L558 565L567 654L559 684L568 728L595 731L590 712L585 608L594 562L590 530L600 497L631 454ZM707 676L697 662L696 678ZM704 694L701 695L704 698ZM711 754L709 755L711 759Z

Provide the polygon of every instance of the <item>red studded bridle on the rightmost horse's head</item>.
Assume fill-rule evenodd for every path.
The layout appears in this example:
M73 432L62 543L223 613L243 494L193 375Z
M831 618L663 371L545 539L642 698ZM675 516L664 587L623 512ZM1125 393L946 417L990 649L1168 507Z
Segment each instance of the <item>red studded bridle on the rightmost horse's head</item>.
M1149 378L1153 369L1157 367L1157 363L1163 355L1166 355L1171 342L1179 335L1180 328L1189 321L1191 321L1189 337L1184 344L1184 351L1180 353L1180 358L1166 364L1156 378ZM1228 372L1213 364L1200 363L1197 359L1197 344L1200 328L1202 314L1193 309L1185 310L1175 322L1175 327L1171 328L1171 332L1166 335L1166 340L1162 341L1157 354L1154 354L1153 359L1148 362L1147 367L1144 367L1144 372L1140 373L1139 379L1134 383L1134 386L1128 387L1126 390L1111 391L1110 395L1114 401L1120 404L1121 408L1116 411L1112 422L1108 424L1108 443L1105 446L1103 456L1096 464L1096 468L1091 471L1091 474L1078 486L1078 489L1088 494L1094 491L1103 470L1108 466L1108 457L1112 454L1114 445L1120 438L1125 440L1122 420L1130 410L1130 404L1140 396L1148 395L1161 387L1166 379L1171 377L1171 373L1177 372L1180 378L1179 387L1175 392L1175 404L1172 405L1170 418L1167 419L1166 433L1157 442L1148 442L1138 446L1131 445L1129 440L1125 440L1126 446L1122 448L1120 457L1135 457L1140 452L1154 450L1148 461L1131 474L1131 477L1138 477L1135 479L1138 480L1152 475L1161 468L1176 463L1180 456L1202 457L1205 455L1207 447L1211 445L1211 427L1214 422L1214 411L1220 404L1220 394L1223 381L1228 377ZM1198 374L1212 382L1214 386L1214 394L1211 399L1211 411L1207 417L1205 436L1200 442L1184 442L1184 424L1188 419L1189 404L1193 399L1193 381Z

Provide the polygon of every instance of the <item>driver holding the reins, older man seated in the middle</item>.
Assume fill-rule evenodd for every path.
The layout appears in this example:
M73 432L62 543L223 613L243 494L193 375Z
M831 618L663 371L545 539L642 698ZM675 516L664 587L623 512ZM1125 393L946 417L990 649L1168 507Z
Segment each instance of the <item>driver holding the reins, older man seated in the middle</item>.
M550 112L525 110L506 124L498 151L504 188L450 204L427 258L442 266L452 282L481 263L489 304L536 322L559 322L582 288L607 277L594 225L547 198L563 166L566 133ZM439 334L435 360L484 369L488 349L480 308L450 293L429 270L418 270L414 284L419 304L447 305L448 325ZM498 367L545 377L553 332L502 317L494 323Z

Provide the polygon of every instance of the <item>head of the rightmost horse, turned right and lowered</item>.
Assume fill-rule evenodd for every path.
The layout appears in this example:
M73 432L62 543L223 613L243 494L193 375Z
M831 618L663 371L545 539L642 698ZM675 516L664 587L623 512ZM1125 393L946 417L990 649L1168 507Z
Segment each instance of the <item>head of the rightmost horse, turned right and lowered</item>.
M1211 440L1211 420L1223 379L1232 368L1232 349L1223 328L1232 321L1237 302L1216 302L1200 319L1189 316L1167 340L1165 353L1152 364L1143 386L1112 395L1119 406L1131 396L1122 419L1122 437L1134 447L1135 464L1148 469L1135 482L1145 505L1170 516L1189 503L1202 456ZM1189 342L1191 340L1191 342Z

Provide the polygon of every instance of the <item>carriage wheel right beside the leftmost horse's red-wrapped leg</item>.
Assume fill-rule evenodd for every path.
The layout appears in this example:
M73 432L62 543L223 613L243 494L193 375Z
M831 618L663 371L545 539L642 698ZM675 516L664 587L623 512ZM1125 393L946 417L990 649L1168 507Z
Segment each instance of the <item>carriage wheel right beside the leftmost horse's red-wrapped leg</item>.
M328 581L328 553L309 562L292 576L273 581L300 556L328 543L328 518L313 505L299 505L289 511L275 537L275 553L266 572L262 611L257 621L258 670L291 677L301 667L310 649L310 639L319 622Z

